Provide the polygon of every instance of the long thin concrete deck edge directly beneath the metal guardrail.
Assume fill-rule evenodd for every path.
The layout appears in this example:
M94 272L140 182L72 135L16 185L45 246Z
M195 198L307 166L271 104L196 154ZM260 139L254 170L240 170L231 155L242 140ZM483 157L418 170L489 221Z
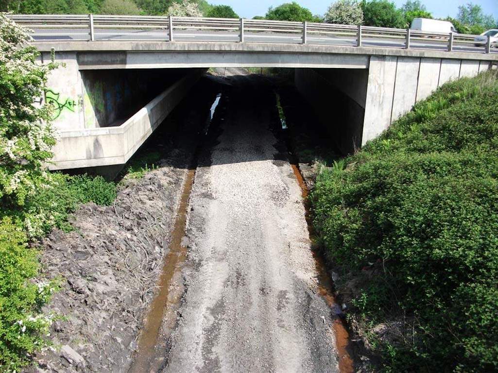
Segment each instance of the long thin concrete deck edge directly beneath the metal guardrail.
M286 43L237 43L237 42L194 42L194 41L38 41L33 43L41 52L254 52L254 53L318 53L349 54L364 56L407 56L437 57L498 61L498 53L447 52L430 49L401 49L384 47L353 47L340 45L286 44Z

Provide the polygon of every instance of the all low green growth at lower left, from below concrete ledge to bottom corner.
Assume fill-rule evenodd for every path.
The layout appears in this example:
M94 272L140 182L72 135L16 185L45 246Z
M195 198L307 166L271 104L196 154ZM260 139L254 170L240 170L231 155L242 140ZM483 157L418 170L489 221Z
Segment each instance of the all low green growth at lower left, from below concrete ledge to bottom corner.
M35 351L50 345L55 315L41 311L58 283L40 277L40 252L32 243L53 228L70 231L68 216L79 205L109 205L116 197L115 183L100 176L51 176L51 184L22 207L3 204L0 211L0 372L18 372Z

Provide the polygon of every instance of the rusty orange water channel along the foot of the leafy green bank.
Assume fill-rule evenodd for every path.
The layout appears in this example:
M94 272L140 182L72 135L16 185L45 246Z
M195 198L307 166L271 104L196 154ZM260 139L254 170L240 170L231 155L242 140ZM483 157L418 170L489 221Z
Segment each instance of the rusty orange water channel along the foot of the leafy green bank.
M310 234L313 233L313 227L311 224L311 216L309 211L308 203L308 187L304 182L303 176L299 167L294 162L291 163L292 171L296 176L297 182L301 187L301 194L304 200L304 207L306 209L306 222L308 223L308 230ZM331 309L336 309L338 307L334 294L332 293L332 280L327 273L327 267L323 257L316 251L313 252L313 258L315 259L316 269L318 271L318 293L325 299L327 304ZM348 352L348 347L350 343L349 333L342 319L339 316L335 316L333 324L334 335L336 338L336 347L339 354L339 372L340 373L353 373L354 372L354 362Z

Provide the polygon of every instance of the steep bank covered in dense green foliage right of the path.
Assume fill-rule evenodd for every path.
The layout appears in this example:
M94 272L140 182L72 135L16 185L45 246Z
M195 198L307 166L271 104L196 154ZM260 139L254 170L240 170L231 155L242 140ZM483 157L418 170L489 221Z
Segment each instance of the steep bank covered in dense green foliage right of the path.
M498 370L497 108L496 72L446 84L318 175L314 226L382 371Z

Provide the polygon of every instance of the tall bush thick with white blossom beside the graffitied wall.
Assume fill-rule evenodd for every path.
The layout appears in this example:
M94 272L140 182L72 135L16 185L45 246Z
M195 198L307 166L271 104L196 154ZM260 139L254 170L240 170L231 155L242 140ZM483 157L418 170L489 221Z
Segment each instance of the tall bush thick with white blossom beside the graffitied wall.
M55 144L50 105L38 105L54 62L37 64L26 30L0 13L0 202L22 206L49 184L43 164Z

